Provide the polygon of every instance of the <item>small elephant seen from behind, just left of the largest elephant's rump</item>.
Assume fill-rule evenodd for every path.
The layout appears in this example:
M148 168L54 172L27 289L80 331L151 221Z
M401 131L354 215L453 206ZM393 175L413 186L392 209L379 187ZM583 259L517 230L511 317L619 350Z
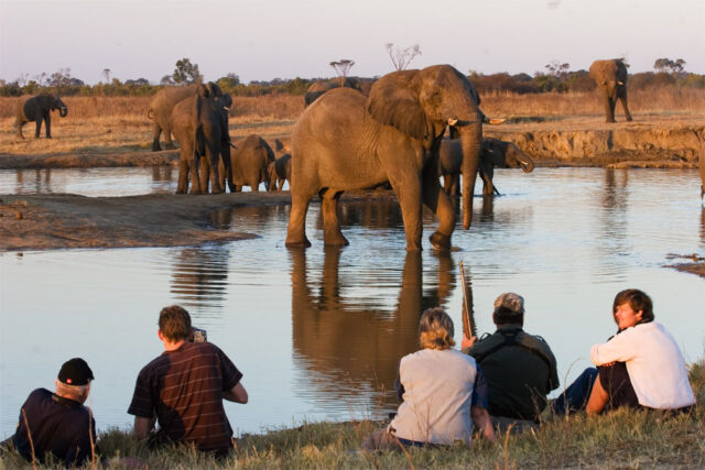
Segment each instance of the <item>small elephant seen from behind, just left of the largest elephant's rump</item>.
M250 134L236 142L236 146L237 150L230 152L230 174L224 171L231 178L230 190L237 193L242 190L242 186L249 186L252 193L257 193L262 182L269 189L270 181L267 171L269 164L274 162L272 147L257 134Z

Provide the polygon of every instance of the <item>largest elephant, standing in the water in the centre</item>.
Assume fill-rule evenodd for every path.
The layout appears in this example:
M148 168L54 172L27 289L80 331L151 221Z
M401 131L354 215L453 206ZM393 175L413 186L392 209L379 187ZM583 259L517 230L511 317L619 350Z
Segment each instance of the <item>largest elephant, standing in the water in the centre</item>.
M463 225L470 226L471 195L482 142L479 96L449 65L400 70L380 78L370 97L349 88L328 91L306 108L292 134L292 208L288 247L310 247L305 218L322 198L324 240L346 245L338 198L345 190L391 183L404 220L406 250L421 250L422 210L438 217L431 244L451 248L455 210L438 183L438 146L446 127L463 146Z

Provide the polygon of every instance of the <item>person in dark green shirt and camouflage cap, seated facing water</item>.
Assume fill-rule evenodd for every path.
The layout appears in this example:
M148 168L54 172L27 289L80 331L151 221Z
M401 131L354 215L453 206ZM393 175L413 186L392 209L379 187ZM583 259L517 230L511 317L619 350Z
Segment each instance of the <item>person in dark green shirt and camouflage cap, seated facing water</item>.
M497 331L479 341L463 337L463 352L475 358L487 381L492 423L509 418L539 422L546 395L558 386L555 357L540 336L524 332L524 299L512 292L495 300Z

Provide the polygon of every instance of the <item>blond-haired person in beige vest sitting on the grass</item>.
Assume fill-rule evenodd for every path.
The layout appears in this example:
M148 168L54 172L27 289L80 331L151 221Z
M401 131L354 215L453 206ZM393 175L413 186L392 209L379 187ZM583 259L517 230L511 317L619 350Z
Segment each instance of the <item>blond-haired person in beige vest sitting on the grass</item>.
M442 308L421 316L422 349L399 363L397 396L402 400L387 428L362 442L367 450L404 446L469 444L473 426L494 440L487 413L487 384L473 357L453 349L453 320Z

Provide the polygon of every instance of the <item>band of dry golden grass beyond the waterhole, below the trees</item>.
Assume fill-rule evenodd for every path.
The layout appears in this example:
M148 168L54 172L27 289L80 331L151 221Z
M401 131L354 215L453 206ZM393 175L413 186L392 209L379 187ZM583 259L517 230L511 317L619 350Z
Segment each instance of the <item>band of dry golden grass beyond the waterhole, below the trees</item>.
M149 151L152 123L147 119L150 97L66 97L68 116L52 114L54 139L33 139L34 123L23 128L24 140L14 131L17 98L0 98L0 152L18 155L46 153L119 153ZM703 114L705 90L663 88L633 91L630 109L634 116ZM482 97L482 110L491 117L601 117L603 103L594 92L516 95ZM250 133L264 139L284 136L303 111L303 97L278 95L236 97L230 119L234 140ZM620 116L621 108L618 106ZM42 131L44 132L44 131Z

